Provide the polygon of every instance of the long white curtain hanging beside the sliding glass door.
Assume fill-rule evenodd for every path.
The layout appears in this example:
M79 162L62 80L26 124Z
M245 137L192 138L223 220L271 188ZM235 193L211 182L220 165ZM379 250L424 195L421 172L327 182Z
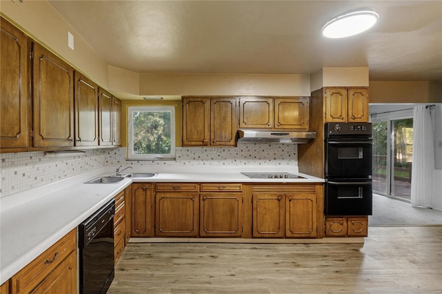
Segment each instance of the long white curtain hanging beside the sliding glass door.
M430 108L414 106L412 206L433 207L434 142Z

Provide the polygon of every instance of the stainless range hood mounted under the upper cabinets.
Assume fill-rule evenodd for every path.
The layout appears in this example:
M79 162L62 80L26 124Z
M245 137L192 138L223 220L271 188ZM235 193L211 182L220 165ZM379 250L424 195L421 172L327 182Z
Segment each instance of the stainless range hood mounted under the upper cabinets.
M238 130L240 143L306 144L316 137L315 132L274 132L272 130Z

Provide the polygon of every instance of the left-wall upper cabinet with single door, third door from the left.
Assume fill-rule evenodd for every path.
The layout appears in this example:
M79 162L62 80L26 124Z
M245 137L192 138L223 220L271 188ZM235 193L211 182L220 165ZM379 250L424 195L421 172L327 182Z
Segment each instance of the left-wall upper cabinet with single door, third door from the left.
M75 72L75 146L98 145L98 86Z

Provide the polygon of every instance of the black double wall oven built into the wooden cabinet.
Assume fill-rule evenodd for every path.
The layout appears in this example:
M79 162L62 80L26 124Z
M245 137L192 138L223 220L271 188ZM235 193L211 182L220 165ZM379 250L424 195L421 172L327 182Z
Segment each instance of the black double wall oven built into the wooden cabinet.
M372 215L372 124L325 124L325 215Z

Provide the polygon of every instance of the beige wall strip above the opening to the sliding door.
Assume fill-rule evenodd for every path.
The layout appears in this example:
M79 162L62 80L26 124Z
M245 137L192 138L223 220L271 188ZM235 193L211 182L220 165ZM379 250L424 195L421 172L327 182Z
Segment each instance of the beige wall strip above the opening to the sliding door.
M370 81L370 103L441 103L442 82Z

